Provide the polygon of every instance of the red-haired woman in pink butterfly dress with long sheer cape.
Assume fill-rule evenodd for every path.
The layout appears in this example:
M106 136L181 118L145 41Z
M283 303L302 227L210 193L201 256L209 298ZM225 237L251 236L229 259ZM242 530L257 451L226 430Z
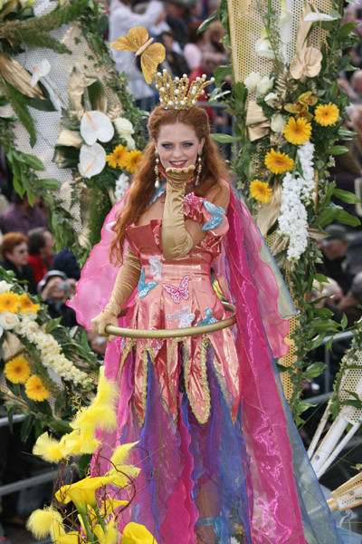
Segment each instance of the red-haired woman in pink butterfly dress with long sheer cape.
M182 334L227 316L213 274L236 325L110 342L119 430L103 433L100 459L138 441L142 468L125 522L143 523L158 544L340 543L274 365L288 352L294 308L225 180L207 114L158 106L148 131L138 174L106 219L71 306L100 335L109 324Z

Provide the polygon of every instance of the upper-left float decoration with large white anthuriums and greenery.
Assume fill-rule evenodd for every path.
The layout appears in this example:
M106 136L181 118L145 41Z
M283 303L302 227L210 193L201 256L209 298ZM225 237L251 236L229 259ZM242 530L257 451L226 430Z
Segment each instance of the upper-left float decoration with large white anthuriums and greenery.
M57 248L80 260L129 186L143 114L115 70L97 2L0 3L0 143L14 189L48 206Z

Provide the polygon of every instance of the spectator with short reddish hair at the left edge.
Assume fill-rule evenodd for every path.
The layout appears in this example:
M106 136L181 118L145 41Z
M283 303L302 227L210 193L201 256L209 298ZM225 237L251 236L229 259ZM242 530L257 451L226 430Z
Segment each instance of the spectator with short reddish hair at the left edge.
M33 269L27 264L29 248L28 238L22 232L8 232L3 237L1 253L5 270L13 270L18 281L27 281L29 293L36 294Z

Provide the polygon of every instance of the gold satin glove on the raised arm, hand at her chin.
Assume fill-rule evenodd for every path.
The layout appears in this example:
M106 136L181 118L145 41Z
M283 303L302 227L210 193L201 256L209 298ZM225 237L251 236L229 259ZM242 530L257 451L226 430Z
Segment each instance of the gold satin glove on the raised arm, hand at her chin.
M166 260L185 257L194 246L184 219L185 188L194 177L195 166L167 168L167 193L162 216L162 251Z

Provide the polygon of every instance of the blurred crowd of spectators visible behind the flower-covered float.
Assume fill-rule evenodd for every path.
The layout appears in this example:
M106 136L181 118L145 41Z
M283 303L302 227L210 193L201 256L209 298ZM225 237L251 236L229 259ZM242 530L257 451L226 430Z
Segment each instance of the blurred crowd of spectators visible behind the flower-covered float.
M200 24L217 9L219 0L110 0L101 2L109 15L109 28L105 38L110 42L129 32L134 26L145 26L148 34L165 45L166 59L159 69L167 68L173 77L186 73L191 81L206 74L210 79L220 65L230 63L230 53L224 49L224 28L218 22L210 24L205 32L198 33ZM348 5L345 10L346 22L361 21L355 32L359 42L351 50L351 63L355 72L339 74L338 83L348 93L348 128L355 131L354 141L340 142L348 152L336 156L336 164L330 169L330 180L336 180L340 189L362 195L362 1ZM157 90L145 82L132 53L112 50L119 72L125 72L129 91L135 105L145 111L157 104ZM345 52L348 53L348 52ZM224 90L231 82L225 81ZM205 102L213 91L207 87L202 98ZM205 106L206 107L206 106ZM221 104L207 105L207 112L213 131L233 133L233 120ZM226 158L232 154L231 147L225 148ZM336 199L349 213L362 216L362 205L348 205ZM327 283L316 282L310 292L310 300L316 307L328 307L333 318L340 322L345 314L348 327L353 327L362 316L362 229L349 228L338 223L326 228L328 238L319 242L321 251L318 271L329 278ZM14 191L12 172L8 167L5 153L0 147L0 247L1 266L13 270L19 280L28 282L29 291L43 297L49 307L50 316L61 317L62 325L77 325L71 308L66 301L75 293L80 269L75 257L67 248L55 253L52 232L49 229L47 209L41 199L31 206ZM102 356L105 351L104 338L89 333L90 348ZM332 345L330 364L324 374L305 384L305 396L330 391L340 361L350 344L350 338L343 338ZM310 354L310 361L325 358L324 348ZM7 430L1 430L0 442L3 450L14 452L8 444ZM304 437L308 442L308 436ZM12 457L12 456L11 456ZM18 463L2 456L0 481L12 481L24 477ZM13 459L14 461L14 459ZM14 471L9 467L14 465ZM22 524L18 515L16 498L3 503L2 520Z

